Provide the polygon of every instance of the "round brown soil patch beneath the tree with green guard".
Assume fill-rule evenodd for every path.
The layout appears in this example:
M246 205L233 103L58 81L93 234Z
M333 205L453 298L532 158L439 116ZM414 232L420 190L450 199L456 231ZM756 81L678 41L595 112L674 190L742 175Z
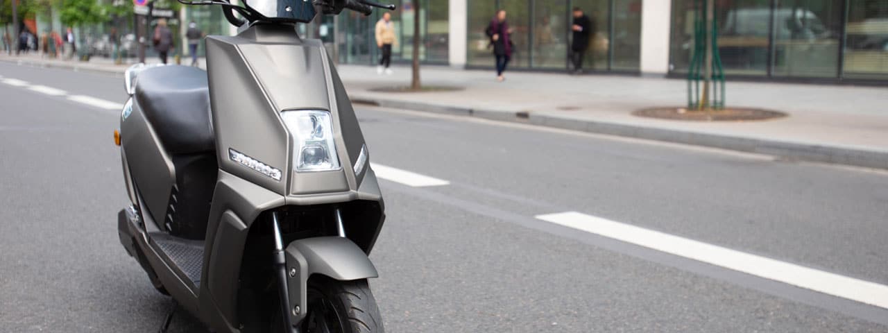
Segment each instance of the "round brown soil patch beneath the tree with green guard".
M632 112L632 115L689 122L755 122L789 116L780 111L749 107L725 107L703 111L687 107L651 107Z

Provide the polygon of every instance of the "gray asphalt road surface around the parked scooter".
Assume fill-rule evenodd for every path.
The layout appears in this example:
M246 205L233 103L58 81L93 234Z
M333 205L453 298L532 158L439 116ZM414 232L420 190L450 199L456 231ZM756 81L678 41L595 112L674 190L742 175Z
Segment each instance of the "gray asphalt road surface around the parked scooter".
M119 111L67 97L122 104L122 79L5 63L0 76L0 331L155 331L170 299L116 234ZM577 211L884 285L888 172L358 114L372 162L449 182L381 180L371 285L390 332L888 332L882 307L535 218ZM171 328L202 330L184 312Z

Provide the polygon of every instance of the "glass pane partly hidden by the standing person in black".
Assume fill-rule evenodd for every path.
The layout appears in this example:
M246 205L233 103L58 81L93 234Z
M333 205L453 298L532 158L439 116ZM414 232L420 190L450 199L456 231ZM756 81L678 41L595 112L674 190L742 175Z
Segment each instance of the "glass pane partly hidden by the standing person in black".
M585 54L583 68L591 71L607 71L609 67L607 57L611 47L608 0L574 0L571 3L574 7L580 7L589 16L592 30L595 31L589 50Z

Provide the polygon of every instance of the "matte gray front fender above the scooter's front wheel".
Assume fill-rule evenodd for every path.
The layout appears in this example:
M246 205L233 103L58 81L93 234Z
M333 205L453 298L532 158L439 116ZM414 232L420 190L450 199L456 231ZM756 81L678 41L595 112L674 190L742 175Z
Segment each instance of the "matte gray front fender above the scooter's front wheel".
M305 319L308 278L320 274L338 281L378 277L361 248L344 237L314 237L290 242L286 250L290 322Z

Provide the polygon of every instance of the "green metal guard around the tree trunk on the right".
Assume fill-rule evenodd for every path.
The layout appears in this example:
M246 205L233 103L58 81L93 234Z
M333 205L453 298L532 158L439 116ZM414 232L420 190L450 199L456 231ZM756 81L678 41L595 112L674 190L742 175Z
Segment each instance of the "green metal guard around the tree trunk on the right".
M725 108L725 70L718 54L713 0L694 1L694 54L687 72L687 107L697 111Z

